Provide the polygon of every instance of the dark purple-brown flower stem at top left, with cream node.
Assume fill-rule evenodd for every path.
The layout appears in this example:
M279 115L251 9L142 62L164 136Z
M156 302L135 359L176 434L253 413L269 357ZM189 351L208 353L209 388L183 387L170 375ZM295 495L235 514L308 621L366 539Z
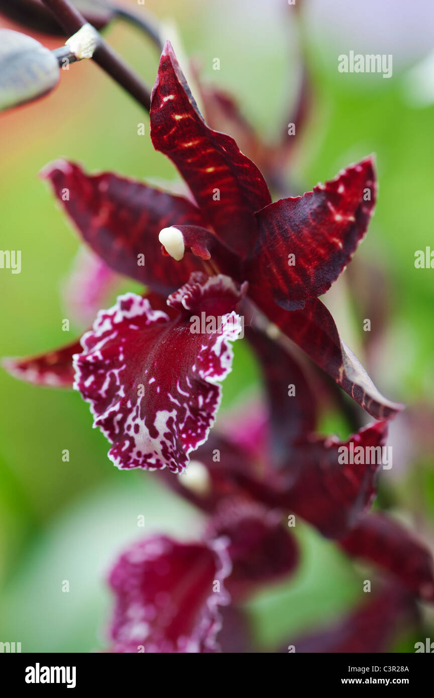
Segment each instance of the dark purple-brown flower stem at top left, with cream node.
M67 34L75 34L84 24L83 15L68 0L42 0L52 11L59 24ZM116 52L100 38L100 43L93 53L93 60L103 68L110 77L123 87L135 101L148 112L151 107L151 91L148 85L117 55Z

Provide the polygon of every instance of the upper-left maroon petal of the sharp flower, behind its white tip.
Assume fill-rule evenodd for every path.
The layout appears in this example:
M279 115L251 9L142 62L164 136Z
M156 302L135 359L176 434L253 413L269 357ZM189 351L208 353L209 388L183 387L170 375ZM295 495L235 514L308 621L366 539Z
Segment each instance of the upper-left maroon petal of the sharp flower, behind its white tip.
M182 262L161 254L158 233L170 225L203 225L200 211L181 196L167 194L116 174L86 174L57 161L41 173L87 244L115 272L167 295L202 269L190 256Z

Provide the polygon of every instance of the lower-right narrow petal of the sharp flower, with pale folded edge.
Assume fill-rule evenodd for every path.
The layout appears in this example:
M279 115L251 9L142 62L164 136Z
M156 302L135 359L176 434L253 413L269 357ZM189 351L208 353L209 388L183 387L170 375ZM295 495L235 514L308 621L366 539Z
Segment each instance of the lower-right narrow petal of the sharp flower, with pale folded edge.
M341 340L334 319L319 299L306 301L303 310L288 312L264 294L261 307L269 320L375 419L387 419L403 410L402 403L388 400L375 387L357 357Z

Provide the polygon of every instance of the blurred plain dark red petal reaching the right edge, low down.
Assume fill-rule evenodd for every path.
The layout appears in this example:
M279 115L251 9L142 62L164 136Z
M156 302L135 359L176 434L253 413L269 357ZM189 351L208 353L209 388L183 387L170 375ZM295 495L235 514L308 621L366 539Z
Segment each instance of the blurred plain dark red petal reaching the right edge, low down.
M384 514L363 517L341 541L356 558L375 563L424 601L434 601L433 555L406 528Z

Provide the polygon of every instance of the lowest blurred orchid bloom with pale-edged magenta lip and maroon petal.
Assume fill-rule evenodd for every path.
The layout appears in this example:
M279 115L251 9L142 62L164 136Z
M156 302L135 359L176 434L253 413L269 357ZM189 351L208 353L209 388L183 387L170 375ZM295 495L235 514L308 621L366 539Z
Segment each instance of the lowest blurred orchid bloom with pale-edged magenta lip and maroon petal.
M280 518L257 504L226 500L202 542L154 536L131 547L110 573L117 599L110 651L220 651L220 607L297 567L297 544Z

